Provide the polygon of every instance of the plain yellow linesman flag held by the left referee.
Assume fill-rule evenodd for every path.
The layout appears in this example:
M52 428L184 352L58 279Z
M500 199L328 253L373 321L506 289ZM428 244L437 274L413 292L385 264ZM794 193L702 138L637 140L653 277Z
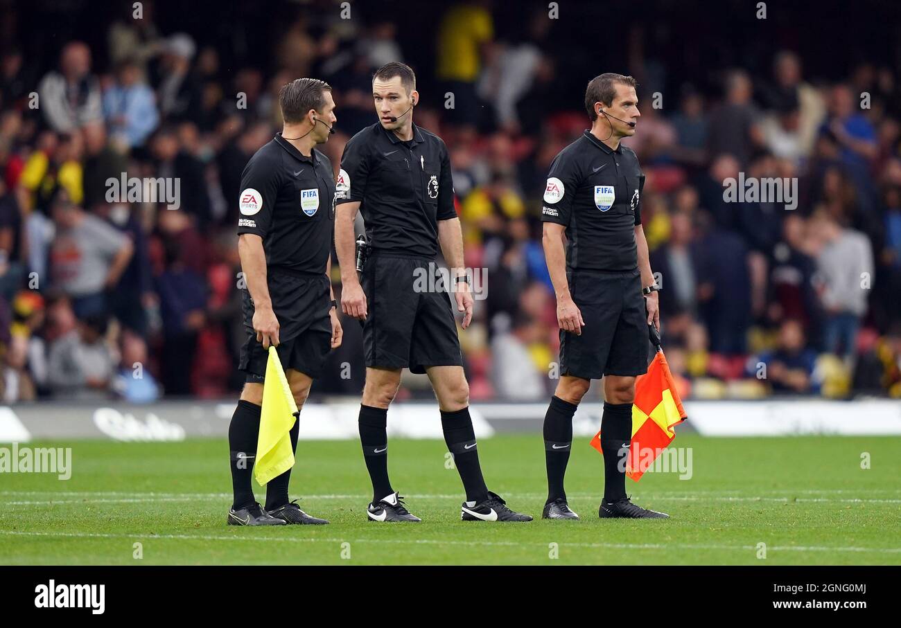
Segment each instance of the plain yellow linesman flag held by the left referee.
M269 346L266 381L263 382L263 408L259 415L257 462L253 466L253 477L260 486L294 466L294 449L288 433L294 427L298 414L276 347Z

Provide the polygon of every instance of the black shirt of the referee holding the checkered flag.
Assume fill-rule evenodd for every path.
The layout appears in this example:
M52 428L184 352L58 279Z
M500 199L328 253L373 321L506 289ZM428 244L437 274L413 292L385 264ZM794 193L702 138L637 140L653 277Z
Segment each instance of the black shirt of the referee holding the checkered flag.
M616 150L589 131L551 162L542 220L566 226L567 268L630 271L638 266L644 175L632 148Z

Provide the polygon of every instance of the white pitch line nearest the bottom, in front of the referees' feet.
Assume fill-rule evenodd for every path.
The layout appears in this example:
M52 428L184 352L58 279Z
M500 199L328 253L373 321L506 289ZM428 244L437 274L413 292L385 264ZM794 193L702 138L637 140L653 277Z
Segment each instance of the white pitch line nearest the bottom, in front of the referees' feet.
M443 539L357 539L348 541L345 539L325 537L263 537L263 536L213 536L209 534L107 534L107 533L72 533L72 532L25 532L14 530L0 530L0 535L5 536L61 536L66 538L101 538L101 539L141 539L144 541L154 539L167 539L177 541L251 541L260 543L406 543L406 544L433 544L433 545L487 545L498 547L521 547L532 543L515 543L512 541L448 541ZM544 543L534 543L536 547L544 548ZM757 550L755 545L705 545L691 543L560 543L564 547L584 547L614 550L732 550L735 552L753 552ZM546 549L546 548L545 548ZM774 545L768 548L770 552L889 552L901 553L901 547L828 547L828 546L797 546Z

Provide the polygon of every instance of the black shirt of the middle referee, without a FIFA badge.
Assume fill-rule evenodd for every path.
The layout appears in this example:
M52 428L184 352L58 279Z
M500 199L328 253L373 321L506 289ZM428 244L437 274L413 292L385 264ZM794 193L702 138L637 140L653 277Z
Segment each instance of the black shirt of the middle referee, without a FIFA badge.
M350 138L335 203L359 201L372 247L401 256L438 254L438 220L457 218L444 141L413 125L405 142L380 122Z

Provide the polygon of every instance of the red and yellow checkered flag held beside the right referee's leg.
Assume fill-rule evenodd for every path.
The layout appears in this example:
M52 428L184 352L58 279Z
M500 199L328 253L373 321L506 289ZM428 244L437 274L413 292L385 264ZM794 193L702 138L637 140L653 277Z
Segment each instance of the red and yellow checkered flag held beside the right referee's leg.
M673 426L686 419L682 400L678 398L676 382L669 372L662 350L654 355L648 372L635 380L635 401L632 405L632 444L626 460L625 474L636 482L648 470L676 433ZM601 433L591 439L591 446L601 450Z

